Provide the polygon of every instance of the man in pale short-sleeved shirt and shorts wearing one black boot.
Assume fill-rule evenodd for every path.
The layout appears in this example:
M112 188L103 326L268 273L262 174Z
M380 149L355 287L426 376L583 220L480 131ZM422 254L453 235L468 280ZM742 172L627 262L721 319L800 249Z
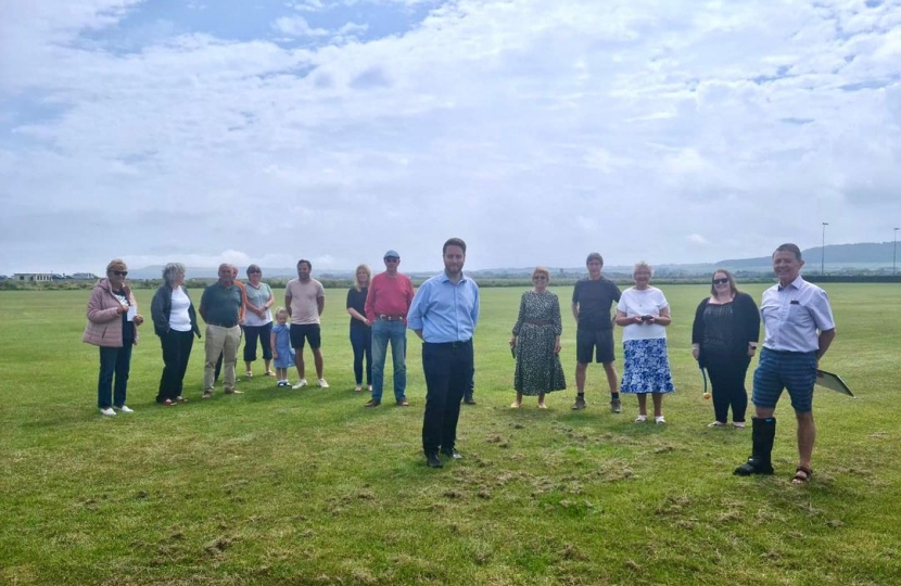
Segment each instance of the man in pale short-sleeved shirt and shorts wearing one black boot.
M801 278L801 250L783 244L773 253L773 272L779 282L763 292L763 351L754 370L753 396L757 410L752 451L735 474L772 474L770 455L776 436L773 412L783 388L788 390L798 420L798 468L791 482L810 481L813 441L813 385L820 359L835 339L835 319L826 292Z

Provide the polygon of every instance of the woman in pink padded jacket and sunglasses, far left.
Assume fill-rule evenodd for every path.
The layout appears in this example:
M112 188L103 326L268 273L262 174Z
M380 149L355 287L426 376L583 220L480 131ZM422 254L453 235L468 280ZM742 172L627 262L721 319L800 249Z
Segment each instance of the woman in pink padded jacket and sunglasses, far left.
M127 275L128 267L118 258L106 265L106 278L97 282L88 300L88 324L81 337L83 342L100 347L97 406L104 416L131 412L125 405L131 346L138 343L138 326L144 318L138 314L138 302L125 284Z

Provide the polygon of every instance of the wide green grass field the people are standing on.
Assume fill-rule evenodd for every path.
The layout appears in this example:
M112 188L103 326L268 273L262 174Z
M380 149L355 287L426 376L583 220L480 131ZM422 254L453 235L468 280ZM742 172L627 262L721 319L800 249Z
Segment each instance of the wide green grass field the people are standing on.
M569 315L571 388L548 395L547 411L534 398L510 410L506 342L521 290L484 289L479 405L461 415L465 459L442 470L421 455L413 334L411 408L364 409L353 393L344 291L327 292L323 316L331 388L255 377L244 395L217 388L201 402L201 342L190 403L157 407L148 323L129 383L136 412L115 418L97 412L97 348L80 342L88 293L0 292L0 584L901 584L901 285L828 286L838 337L821 366L859 398L816 392L815 475L801 487L788 483L787 397L776 475L732 476L750 431L706 426L712 407L689 354L706 286L662 289L677 388L665 426L633 423L634 397L611 413L599 367L588 408L570 410ZM567 307L571 290L554 290ZM152 293L137 292L148 318Z

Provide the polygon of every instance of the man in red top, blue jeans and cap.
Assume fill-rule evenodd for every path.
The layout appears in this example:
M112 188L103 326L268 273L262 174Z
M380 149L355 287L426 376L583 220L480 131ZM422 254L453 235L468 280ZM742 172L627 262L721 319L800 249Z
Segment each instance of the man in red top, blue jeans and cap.
M384 253L384 272L376 275L366 296L366 318L372 323L372 397L367 407L382 403L384 360L391 342L394 361L394 400L407 407L407 311L413 303L413 283L409 277L397 272L401 255L397 251Z

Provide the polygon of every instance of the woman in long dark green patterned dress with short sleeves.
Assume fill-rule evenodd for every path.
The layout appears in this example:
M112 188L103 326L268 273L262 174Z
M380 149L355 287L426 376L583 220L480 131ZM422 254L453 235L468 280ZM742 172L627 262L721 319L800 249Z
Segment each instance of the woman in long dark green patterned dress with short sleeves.
M519 317L513 326L510 348L516 353L513 388L517 399L510 407L519 409L522 396L538 396L538 408L546 409L544 396L567 387L560 366L560 301L547 290L550 272L544 267L532 271L534 288L522 294Z

